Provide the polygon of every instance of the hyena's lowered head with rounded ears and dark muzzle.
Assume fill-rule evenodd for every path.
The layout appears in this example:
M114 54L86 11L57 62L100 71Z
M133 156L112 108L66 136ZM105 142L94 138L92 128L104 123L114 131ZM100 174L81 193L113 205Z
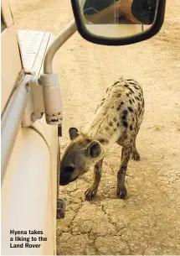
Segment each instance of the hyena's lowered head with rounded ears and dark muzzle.
M86 138L77 128L69 128L70 144L60 163L59 185L67 185L84 175L102 158L101 144Z

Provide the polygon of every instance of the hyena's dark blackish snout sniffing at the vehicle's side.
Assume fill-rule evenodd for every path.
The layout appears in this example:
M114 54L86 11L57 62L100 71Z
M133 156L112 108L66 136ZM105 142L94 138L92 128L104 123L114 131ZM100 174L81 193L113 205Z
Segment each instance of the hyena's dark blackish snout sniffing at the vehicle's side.
M72 165L60 167L60 181L59 185L68 185L70 182L76 180L75 167Z

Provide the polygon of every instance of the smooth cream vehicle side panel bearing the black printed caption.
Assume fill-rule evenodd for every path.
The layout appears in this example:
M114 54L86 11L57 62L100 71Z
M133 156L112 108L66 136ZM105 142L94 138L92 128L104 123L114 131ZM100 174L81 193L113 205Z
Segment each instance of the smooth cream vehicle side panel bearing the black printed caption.
M19 128L2 185L3 255L54 254L50 170L51 157L44 139L33 129ZM41 243L40 248L10 248L10 237L13 237L10 230L13 229L41 230L48 241Z

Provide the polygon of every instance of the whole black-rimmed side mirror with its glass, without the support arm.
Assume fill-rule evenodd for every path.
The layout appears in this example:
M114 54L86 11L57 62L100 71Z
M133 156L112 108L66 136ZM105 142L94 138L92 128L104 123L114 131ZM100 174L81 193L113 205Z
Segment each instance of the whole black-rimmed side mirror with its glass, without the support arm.
M162 28L166 0L71 0L77 29L95 44L150 39Z

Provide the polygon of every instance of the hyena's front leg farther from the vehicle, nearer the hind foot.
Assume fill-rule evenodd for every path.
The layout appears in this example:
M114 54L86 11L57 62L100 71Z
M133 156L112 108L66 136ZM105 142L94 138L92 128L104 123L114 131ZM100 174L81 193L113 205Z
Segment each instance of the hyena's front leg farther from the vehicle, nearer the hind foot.
M127 191L125 185L126 170L131 157L132 147L123 147L121 152L121 165L117 172L117 191L116 195L120 199L126 199Z

